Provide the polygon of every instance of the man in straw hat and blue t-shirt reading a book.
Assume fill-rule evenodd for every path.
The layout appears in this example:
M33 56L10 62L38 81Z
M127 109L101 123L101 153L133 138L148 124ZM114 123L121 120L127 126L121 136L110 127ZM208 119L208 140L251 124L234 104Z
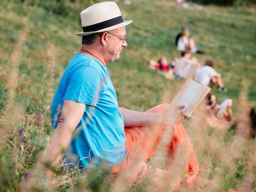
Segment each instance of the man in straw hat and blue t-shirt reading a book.
M136 167L135 182L150 169L145 161L154 153L164 128L173 128L169 155L186 144L186 172L198 173L197 157L181 124L182 109L160 104L148 112L118 106L106 65L127 47L126 25L115 2L100 2L80 14L83 32L80 51L70 60L52 106L54 133L43 159L58 165L65 152L69 164L88 167L107 164L112 173ZM168 118L166 118L168 117ZM138 151L139 150L139 151ZM156 169L156 177L166 170Z

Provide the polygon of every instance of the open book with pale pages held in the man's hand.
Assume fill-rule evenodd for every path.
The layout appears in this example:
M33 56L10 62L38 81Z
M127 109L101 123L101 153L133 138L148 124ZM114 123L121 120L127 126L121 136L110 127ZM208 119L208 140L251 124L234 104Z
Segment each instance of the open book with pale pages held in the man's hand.
M200 85L194 80L187 79L171 102L171 106L184 105L184 115L189 117L210 90L208 86Z

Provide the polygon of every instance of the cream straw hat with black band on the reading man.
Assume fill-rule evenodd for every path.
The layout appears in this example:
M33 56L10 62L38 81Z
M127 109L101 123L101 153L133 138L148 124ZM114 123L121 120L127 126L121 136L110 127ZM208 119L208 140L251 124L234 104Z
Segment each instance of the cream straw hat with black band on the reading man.
M93 4L82 10L80 17L83 31L75 33L79 36L114 30L132 23L132 20L122 20L121 11L113 1Z

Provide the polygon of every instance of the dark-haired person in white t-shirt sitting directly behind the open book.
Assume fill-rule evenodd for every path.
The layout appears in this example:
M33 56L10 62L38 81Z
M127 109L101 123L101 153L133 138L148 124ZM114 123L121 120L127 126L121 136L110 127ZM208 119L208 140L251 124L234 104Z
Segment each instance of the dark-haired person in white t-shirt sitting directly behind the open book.
M213 86L215 85L219 91L227 91L224 87L223 79L220 73L213 69L214 63L212 60L207 59L205 64L195 73L195 81L201 85Z

